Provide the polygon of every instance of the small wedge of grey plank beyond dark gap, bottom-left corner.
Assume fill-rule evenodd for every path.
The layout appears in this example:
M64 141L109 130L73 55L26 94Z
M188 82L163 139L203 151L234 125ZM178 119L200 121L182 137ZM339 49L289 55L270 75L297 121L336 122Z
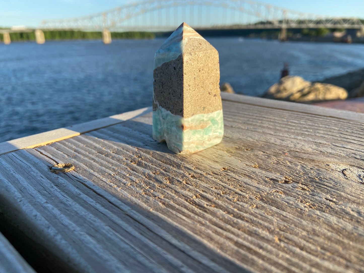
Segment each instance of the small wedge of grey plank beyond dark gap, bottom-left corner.
M35 273L28 263L0 233L0 272L1 273Z

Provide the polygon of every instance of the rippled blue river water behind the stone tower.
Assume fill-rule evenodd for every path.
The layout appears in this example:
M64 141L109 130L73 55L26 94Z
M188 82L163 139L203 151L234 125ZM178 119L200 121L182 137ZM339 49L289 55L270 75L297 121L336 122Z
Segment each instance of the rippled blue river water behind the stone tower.
M0 142L151 105L153 58L164 39L0 44ZM207 38L221 82L258 96L290 74L321 80L364 67L363 44Z

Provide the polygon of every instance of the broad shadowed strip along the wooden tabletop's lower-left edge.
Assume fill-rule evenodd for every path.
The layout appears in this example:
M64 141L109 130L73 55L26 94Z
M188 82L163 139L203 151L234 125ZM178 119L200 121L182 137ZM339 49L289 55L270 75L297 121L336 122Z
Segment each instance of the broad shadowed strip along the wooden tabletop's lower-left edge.
M34 253L56 253L63 261L57 266L45 264L50 266L46 269L224 272L219 264L231 271L238 269L223 257L210 260L205 253L210 254L211 250L188 236L175 239L170 234L176 232L173 225L163 219L150 219L149 211L133 204L129 197L112 197L76 173L53 174L44 162L50 161L49 158L38 152L36 156L40 158L32 154L21 150L2 155L1 165L10 171L0 175L4 187L0 193L2 203L8 202L9 206L14 199L20 202L16 207L11 206L12 210L1 207L1 211L8 221L17 220L22 232L33 234L33 240L43 242L43 248L33 249ZM35 222L27 219L25 211ZM23 218L13 219L13 214L23 214Z

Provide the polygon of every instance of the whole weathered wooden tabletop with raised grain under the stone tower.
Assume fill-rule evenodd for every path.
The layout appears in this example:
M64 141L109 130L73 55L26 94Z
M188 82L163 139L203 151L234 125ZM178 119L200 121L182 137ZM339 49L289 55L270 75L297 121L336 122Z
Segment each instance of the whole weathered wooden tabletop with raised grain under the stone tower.
M363 272L363 120L223 111L223 141L191 155L151 113L3 154L0 212L69 272Z

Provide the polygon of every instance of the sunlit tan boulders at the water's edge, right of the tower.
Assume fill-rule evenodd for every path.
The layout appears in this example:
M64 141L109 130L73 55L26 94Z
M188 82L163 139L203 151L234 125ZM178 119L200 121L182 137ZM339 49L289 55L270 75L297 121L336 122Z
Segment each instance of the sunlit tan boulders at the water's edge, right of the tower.
M346 99L348 92L333 84L311 83L299 76L286 76L280 82L273 84L263 97L312 103Z

